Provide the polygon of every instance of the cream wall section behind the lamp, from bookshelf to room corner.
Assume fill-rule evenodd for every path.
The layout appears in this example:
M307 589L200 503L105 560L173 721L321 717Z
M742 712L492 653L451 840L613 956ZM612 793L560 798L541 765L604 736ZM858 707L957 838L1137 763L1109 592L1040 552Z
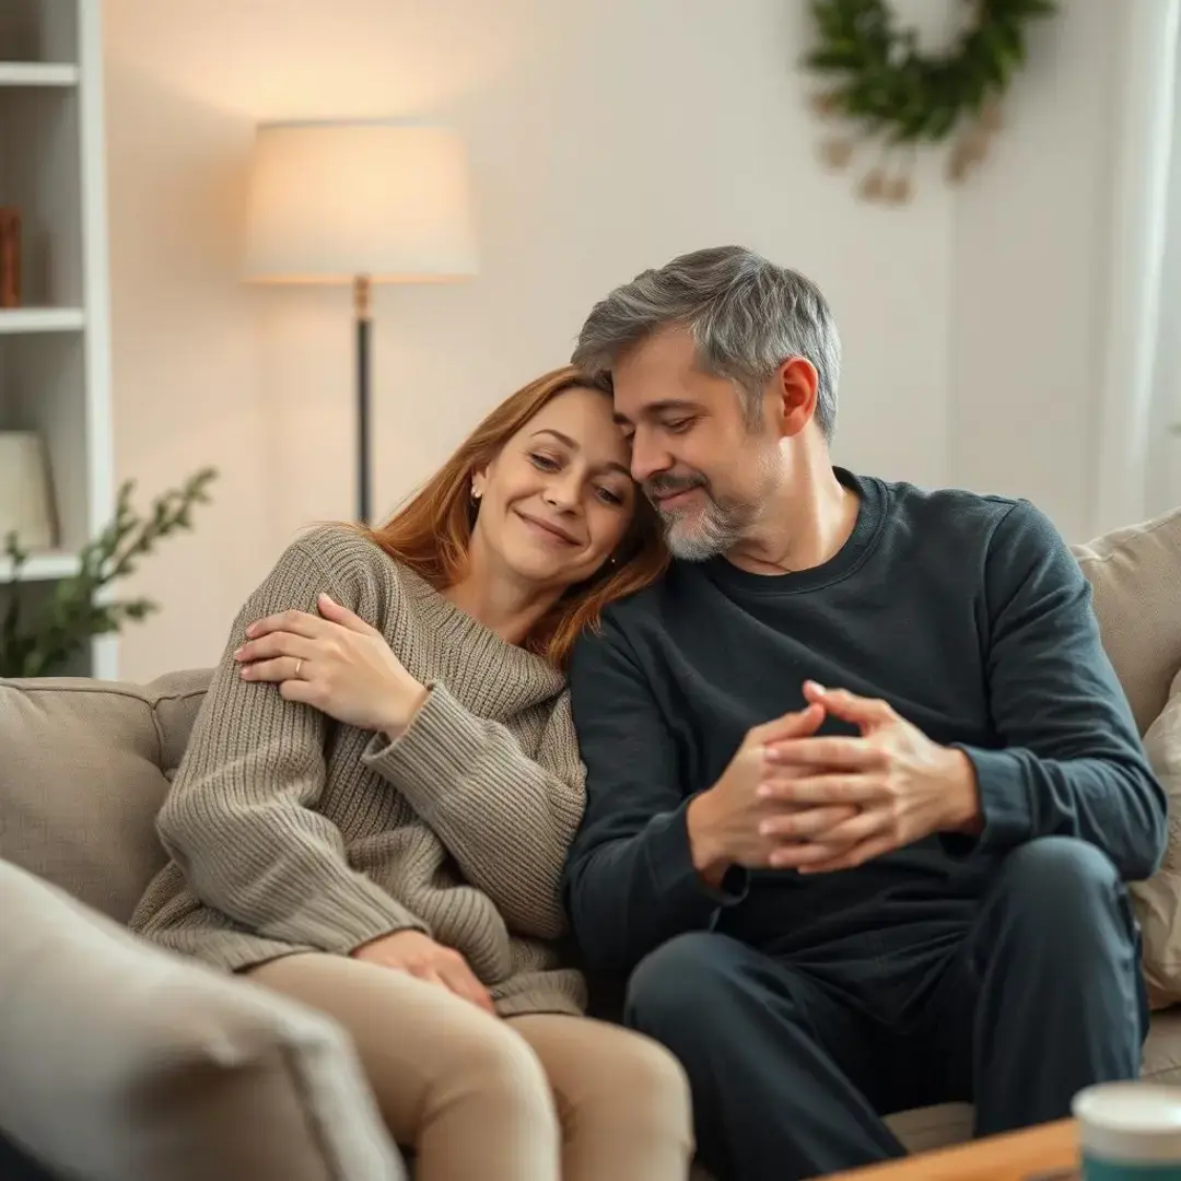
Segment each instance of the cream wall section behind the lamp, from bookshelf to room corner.
M938 6L940 0L934 0ZM932 0L921 0L928 14ZM902 210L816 167L785 0L107 0L117 462L142 494L221 470L191 536L136 589L122 673L217 658L293 529L352 502L345 291L235 279L255 122L438 118L468 138L483 266L381 288L377 501L476 417L562 363L590 304L637 270L740 241L826 289L846 346L837 458L946 476L954 196Z

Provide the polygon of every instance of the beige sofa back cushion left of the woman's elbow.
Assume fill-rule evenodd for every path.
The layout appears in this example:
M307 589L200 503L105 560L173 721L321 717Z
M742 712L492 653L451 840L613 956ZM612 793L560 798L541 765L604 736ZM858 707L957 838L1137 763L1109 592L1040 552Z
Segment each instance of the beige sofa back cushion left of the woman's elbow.
M156 813L208 683L0 680L0 857L125 922L164 862Z

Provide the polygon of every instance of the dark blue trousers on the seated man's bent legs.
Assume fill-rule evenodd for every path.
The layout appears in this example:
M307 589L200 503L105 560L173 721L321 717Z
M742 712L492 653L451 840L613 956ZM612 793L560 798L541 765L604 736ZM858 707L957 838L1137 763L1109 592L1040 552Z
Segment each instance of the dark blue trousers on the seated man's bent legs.
M882 1116L929 1103L973 1102L977 1135L1059 1118L1083 1087L1138 1075L1148 1027L1127 893L1068 837L1009 854L955 922L787 957L681 935L635 970L624 1017L685 1065L719 1181L901 1156Z

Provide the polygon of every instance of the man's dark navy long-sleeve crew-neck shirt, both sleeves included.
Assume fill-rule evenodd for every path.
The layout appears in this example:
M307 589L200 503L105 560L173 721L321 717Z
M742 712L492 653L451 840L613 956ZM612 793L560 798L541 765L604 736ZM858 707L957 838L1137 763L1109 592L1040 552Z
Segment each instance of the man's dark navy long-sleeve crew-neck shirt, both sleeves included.
M628 971L689 932L790 953L968 913L1007 850L1064 835L1125 880L1163 855L1166 800L1104 653L1090 587L1024 501L925 491L837 469L860 497L824 565L757 575L677 562L575 650L587 811L568 901L587 966ZM933 835L816 876L694 872L685 813L746 731L804 705L805 679L887 700L979 783L979 837ZM821 732L852 727L829 719Z

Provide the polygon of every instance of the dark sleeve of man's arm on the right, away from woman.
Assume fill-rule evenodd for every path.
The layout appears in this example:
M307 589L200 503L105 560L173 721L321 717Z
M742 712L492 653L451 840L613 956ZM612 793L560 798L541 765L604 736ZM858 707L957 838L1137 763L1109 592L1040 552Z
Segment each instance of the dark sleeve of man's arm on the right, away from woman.
M988 704L996 749L961 746L985 827L950 852L1004 853L1038 836L1102 849L1127 880L1164 849L1166 800L1103 651L1090 585L1046 517L1018 502L985 568Z

